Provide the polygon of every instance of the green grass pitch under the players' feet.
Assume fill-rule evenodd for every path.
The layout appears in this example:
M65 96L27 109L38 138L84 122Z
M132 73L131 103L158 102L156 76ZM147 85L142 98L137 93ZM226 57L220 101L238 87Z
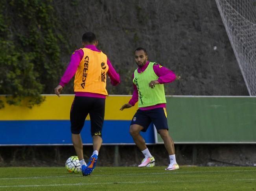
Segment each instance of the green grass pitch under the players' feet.
M91 176L65 167L1 167L1 190L256 190L256 167L96 167Z

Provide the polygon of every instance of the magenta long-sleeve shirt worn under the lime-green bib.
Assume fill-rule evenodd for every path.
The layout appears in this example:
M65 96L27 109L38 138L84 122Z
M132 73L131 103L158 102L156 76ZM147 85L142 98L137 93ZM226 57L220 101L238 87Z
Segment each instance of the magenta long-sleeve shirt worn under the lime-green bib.
M145 71L145 69L147 68L148 65L149 65L149 61L147 61L144 66L138 67L138 69L137 69L138 73L142 73L143 71ZM159 84L166 84L169 82L173 82L176 79L176 75L175 75L175 73L173 73L173 71L167 69L166 67L161 66L160 64L153 65L153 70L154 70L155 74L159 77L157 79ZM134 73L133 73L133 78L134 78ZM132 96L131 100L129 101L129 104L131 104L132 106L134 106L134 104L136 104L136 102L138 102L138 98L139 98L138 89L135 84L133 84L133 88L134 88L133 96ZM166 104L157 104L154 106L140 107L139 109L148 110L148 109L155 109L158 107L166 107Z

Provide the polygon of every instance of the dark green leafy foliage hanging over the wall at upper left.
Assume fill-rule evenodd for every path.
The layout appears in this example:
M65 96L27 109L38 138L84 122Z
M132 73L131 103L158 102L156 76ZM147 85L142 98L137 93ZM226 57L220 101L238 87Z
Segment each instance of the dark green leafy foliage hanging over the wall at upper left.
M24 97L28 107L40 104L63 72L65 38L52 1L1 1L0 7L0 94L11 95L8 104L20 105Z

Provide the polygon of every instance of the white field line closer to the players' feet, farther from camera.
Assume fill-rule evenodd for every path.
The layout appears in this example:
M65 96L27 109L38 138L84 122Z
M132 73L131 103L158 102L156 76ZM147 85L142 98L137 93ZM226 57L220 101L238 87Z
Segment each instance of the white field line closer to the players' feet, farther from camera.
M93 176L134 176L134 175L163 175L163 174L194 174L194 173L223 173L223 172L251 172L255 170L230 170L230 171L195 171L195 172L179 172L179 171L166 171L164 173L134 173L134 174L115 174L115 175L93 175ZM0 180L19 180L19 179L44 179L44 178L69 178L69 177L81 177L80 175L64 175L64 176L31 176L31 177L14 177L14 178L0 178Z

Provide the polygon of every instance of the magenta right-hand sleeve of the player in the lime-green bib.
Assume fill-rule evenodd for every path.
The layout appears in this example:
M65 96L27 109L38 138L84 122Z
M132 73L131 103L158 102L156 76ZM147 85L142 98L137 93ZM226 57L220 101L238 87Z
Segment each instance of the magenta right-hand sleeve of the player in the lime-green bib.
M153 69L156 75L159 77L157 80L159 84L173 82L176 79L176 75L173 71L161 66L160 64L153 65Z

